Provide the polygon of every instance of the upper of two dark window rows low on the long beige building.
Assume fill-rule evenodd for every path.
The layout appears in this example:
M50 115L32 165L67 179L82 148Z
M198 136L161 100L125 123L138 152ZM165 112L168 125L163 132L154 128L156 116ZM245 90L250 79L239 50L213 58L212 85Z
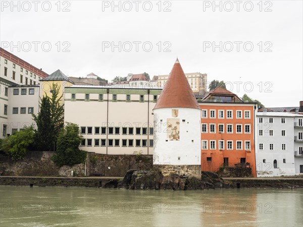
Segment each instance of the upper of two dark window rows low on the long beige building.
M81 127L81 134L115 134L120 135L120 127ZM94 131L92 131L94 129ZM122 127L122 135L147 135L147 128ZM154 128L149 128L149 135L154 135Z

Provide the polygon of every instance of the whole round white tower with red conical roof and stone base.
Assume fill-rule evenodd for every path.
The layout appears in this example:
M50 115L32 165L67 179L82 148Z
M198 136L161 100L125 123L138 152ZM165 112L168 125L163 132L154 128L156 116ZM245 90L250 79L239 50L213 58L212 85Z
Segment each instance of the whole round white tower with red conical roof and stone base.
M154 167L201 178L201 110L176 60L154 108Z

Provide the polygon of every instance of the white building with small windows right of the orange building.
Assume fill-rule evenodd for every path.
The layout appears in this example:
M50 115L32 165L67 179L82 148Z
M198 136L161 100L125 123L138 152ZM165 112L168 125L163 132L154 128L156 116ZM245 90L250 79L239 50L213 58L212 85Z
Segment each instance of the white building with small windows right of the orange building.
M303 173L302 119L294 113L257 113L257 177Z

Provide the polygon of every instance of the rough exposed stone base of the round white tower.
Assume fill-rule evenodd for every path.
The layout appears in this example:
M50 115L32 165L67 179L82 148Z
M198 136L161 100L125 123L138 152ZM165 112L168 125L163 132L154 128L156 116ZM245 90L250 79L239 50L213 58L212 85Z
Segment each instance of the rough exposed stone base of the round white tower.
M170 174L178 174L183 177L201 179L201 165L154 165L154 168L159 169L164 177Z

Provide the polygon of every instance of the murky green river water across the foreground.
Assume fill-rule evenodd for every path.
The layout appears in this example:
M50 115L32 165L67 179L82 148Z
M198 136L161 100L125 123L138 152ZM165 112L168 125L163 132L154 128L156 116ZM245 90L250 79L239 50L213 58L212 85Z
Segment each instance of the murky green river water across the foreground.
M303 190L0 186L0 226L302 226Z

